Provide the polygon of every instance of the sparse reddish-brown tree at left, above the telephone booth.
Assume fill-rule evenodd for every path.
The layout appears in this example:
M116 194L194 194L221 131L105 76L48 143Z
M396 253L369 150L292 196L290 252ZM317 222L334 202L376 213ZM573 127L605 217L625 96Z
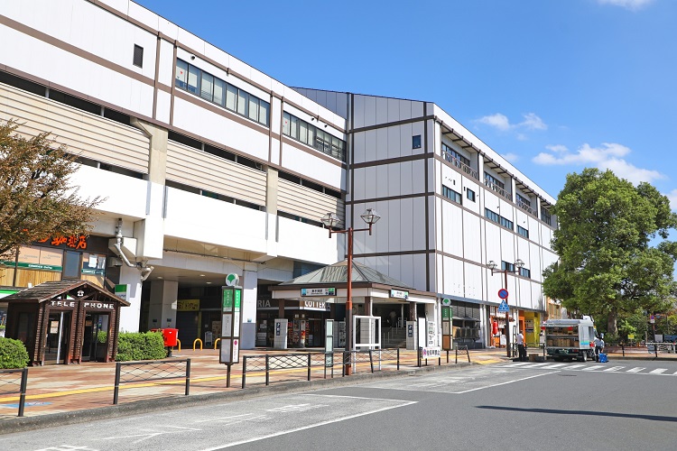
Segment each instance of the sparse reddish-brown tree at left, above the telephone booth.
M82 199L69 178L78 164L50 133L25 138L0 124L0 257L49 236L87 234L101 199Z

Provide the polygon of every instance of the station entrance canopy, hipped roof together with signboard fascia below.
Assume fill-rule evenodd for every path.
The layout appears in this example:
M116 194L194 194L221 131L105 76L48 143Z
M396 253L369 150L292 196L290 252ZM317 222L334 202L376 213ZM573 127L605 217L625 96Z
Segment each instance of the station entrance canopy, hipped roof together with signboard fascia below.
M352 297L370 298L375 304L416 302L434 304L437 294L414 290L382 272L353 261ZM270 287L273 299L321 299L345 303L348 296L348 260L309 272L291 281Z

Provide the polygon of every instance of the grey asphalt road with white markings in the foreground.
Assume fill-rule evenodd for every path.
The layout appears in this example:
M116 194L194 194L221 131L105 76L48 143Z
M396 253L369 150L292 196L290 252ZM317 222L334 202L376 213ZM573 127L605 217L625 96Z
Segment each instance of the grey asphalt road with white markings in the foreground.
M677 362L506 363L2 437L12 451L677 448Z

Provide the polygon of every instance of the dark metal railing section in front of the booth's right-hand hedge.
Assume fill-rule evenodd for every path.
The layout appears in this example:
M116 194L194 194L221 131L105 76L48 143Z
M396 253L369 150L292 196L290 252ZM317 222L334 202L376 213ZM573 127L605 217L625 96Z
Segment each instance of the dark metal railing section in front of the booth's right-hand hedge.
M190 391L190 359L117 362L113 404L117 404L121 383L155 382L183 378L186 379L186 396L188 396Z

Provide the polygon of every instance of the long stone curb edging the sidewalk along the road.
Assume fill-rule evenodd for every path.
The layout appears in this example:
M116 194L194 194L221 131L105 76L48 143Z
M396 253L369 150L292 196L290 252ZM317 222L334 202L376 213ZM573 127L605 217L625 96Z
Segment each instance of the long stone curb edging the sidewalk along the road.
M473 362L454 364L454 366L422 366L421 368L404 369L392 373L354 374L348 377L334 377L333 379L316 379L313 381L283 382L279 385L268 385L255 388L246 388L238 391L221 391L189 396L171 396L153 400L136 400L126 404L87 410L73 410L70 412L50 413L34 417L16 417L0 421L0 435L24 432L38 428L52 428L71 424L85 423L96 419L114 419L127 415L155 412L158 410L180 409L194 407L206 403L236 401L260 398L276 394L293 393L299 391L321 390L333 387L352 385L357 382L368 382L375 379L395 379L441 371L459 371L468 366L476 365Z

